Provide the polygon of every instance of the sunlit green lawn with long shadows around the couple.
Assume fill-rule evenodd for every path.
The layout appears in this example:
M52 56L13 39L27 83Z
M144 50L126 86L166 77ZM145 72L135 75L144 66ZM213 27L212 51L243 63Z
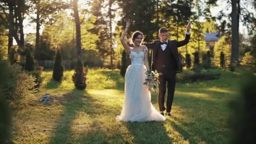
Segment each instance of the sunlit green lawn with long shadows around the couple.
M86 91L75 90L71 76L64 81L44 78L39 98L51 94L51 104L31 101L13 112L13 141L36 143L138 143L221 144L227 142L228 103L234 98L240 73L219 70L219 80L177 84L173 116L165 122L123 123L115 121L124 101L124 78L117 70L90 69ZM157 95L152 104L158 109Z

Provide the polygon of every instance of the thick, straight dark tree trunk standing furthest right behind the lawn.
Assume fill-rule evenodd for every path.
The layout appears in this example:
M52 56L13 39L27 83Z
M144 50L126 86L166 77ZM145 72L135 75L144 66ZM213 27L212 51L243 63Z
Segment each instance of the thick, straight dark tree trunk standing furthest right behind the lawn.
M232 49L231 63L238 62L238 27L237 27L237 0L232 0Z

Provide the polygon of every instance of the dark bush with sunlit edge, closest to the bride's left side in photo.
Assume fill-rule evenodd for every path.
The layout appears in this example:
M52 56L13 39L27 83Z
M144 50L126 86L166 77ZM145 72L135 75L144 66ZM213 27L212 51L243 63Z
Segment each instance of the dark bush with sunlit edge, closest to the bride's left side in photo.
M78 59L76 68L75 68L75 73L72 76L72 80L75 84L75 88L79 90L85 90L87 73L88 73L88 68L84 68L81 59Z

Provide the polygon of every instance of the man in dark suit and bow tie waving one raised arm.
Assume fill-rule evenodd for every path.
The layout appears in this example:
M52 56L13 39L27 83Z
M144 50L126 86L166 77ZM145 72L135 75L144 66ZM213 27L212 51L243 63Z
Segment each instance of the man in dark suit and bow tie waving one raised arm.
M158 88L158 105L160 113L164 115L166 109L166 115L172 117L171 107L173 103L173 95L175 91L176 73L181 67L181 60L178 53L178 47L186 45L189 42L191 21L187 25L187 32L184 40L168 40L168 29L162 27L159 29L160 40L155 40L152 43L144 43L148 49L153 50L152 55L152 70L161 72L163 75L159 76ZM166 108L164 106L165 92L167 83L167 102Z

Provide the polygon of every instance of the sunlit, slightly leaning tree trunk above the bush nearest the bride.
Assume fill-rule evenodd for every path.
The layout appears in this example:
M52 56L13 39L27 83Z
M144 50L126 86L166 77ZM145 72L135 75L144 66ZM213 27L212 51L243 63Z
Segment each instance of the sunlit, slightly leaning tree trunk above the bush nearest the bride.
M81 28L80 28L79 13L77 9L77 0L73 0L73 4L74 4L74 17L75 17L75 28L76 28L77 57L78 59L81 59Z

